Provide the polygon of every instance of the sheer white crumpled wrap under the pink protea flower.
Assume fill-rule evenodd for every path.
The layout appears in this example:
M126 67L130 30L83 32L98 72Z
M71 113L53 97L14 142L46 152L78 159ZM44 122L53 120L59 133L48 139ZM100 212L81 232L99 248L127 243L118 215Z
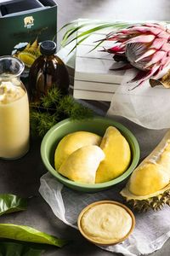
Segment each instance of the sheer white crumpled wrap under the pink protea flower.
M136 72L130 69L125 73L107 115L123 116L148 129L169 128L170 90L162 86L152 88L149 81L134 88L138 83L127 82L135 77Z

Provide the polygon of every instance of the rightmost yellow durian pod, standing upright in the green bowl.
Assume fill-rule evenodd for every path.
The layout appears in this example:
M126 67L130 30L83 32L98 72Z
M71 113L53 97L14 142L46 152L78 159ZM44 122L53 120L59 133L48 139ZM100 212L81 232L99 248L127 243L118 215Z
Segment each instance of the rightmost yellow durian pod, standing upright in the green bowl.
M105 153L105 160L100 163L96 172L96 183L104 183L122 175L131 160L130 146L116 127L107 128L100 148Z

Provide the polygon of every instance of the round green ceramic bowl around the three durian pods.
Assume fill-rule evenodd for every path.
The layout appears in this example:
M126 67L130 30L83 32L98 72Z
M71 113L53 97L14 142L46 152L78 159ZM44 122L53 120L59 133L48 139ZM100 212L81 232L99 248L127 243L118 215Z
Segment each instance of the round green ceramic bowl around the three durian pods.
M115 179L105 182L105 183L96 183L96 184L82 184L73 182L70 179L63 177L59 172L54 169L54 152L59 143L59 141L65 137L65 135L74 132L74 131L91 131L99 136L103 137L105 130L108 126L115 126L122 135L126 137L127 142L130 145L132 152L132 161L127 171L124 172L121 176L116 177ZM50 172L54 177L56 177L59 182L65 184L65 186L83 192L97 192L104 189L109 189L116 183L122 182L126 177L128 177L134 168L139 162L139 143L136 138L133 136L133 133L129 131L125 126L120 123L115 122L112 119L106 119L103 117L95 117L94 119L85 119L85 120L71 120L65 119L59 122L57 125L54 125L47 134L42 139L41 145L41 155L42 161L48 172Z

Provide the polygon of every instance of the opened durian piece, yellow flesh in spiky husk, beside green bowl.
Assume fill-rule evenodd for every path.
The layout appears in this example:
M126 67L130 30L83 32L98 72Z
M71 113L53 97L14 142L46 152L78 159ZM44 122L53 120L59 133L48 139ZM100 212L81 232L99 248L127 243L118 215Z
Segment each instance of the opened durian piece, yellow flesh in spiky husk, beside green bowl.
M133 171L121 195L139 212L170 206L170 131Z

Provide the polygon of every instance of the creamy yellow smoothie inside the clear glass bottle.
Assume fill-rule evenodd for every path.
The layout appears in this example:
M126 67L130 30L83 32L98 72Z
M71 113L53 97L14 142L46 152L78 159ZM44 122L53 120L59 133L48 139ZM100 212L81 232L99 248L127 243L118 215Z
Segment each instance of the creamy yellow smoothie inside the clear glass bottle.
M17 79L0 80L0 157L18 158L29 148L29 104Z

